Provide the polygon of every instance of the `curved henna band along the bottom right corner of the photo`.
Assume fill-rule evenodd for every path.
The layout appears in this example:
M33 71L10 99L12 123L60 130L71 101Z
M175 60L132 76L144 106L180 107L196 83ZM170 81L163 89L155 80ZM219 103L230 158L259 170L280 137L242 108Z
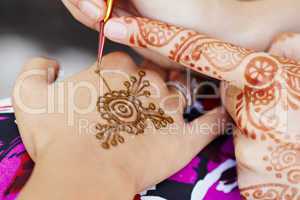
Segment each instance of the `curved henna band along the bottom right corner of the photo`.
M299 200L299 189L284 184L262 184L241 189L242 199Z

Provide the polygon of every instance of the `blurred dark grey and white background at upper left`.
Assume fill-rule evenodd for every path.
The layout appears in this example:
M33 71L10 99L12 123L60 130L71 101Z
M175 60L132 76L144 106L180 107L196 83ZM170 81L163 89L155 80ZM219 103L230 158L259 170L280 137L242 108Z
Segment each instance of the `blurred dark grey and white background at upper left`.
M97 33L70 15L60 0L0 1L0 99L7 98L24 62L32 57L54 58L61 64L61 77L93 64ZM105 52L127 51L107 43Z

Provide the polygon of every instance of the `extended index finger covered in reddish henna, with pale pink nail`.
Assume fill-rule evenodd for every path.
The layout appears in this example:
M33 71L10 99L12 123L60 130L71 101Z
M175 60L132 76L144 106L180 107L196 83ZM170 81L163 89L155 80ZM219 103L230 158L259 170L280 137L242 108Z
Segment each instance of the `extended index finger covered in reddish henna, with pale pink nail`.
M145 18L111 19L105 35L116 42L158 52L187 68L238 87L245 84L246 68L253 66L256 58L267 57L275 63L264 53L253 53L195 31Z

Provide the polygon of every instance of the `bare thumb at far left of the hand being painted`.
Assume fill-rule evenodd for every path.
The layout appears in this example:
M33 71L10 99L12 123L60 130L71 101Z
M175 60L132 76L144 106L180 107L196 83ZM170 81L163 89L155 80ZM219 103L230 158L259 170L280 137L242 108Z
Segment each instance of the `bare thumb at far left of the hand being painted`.
M24 65L15 83L13 107L22 140L32 159L36 158L34 132L24 122L32 124L36 117L47 112L48 86L56 80L58 70L56 61L35 58Z

